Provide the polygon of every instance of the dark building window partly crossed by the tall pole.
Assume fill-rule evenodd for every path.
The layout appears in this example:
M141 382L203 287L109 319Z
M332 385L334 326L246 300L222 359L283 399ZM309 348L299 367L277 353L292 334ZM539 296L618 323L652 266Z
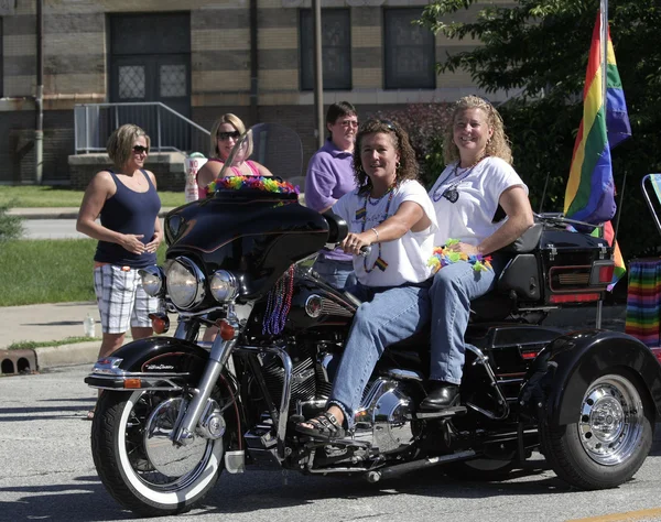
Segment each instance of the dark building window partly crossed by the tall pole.
M314 31L311 9L301 9L301 90L314 88ZM348 9L322 10L324 89L351 88L351 21Z

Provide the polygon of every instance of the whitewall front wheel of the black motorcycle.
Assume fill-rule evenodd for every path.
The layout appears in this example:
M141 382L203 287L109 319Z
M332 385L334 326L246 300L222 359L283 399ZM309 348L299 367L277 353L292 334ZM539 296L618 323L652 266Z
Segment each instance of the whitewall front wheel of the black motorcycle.
M122 505L145 516L188 511L223 470L223 438L174 446L181 392L104 392L91 426L94 464Z

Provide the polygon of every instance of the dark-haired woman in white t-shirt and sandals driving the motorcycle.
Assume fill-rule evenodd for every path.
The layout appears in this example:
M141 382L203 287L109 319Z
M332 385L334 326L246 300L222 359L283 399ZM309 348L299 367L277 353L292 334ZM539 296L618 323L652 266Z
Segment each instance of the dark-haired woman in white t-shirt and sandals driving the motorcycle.
M362 391L387 346L429 320L427 261L433 253L436 216L418 183L418 164L409 137L397 123L369 120L356 137L354 170L358 188L345 194L333 211L349 225L340 247L354 254L362 301L334 379L328 409L296 426L314 438L335 439L354 425ZM371 253L359 257L371 244Z

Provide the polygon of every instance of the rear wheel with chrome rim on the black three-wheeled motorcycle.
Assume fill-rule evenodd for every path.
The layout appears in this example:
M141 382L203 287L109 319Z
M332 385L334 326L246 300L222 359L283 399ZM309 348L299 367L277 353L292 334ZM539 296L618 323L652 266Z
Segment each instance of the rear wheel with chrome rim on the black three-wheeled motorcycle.
M555 474L576 488L615 488L638 471L652 445L653 413L627 369L590 382L566 426L542 423L541 442Z

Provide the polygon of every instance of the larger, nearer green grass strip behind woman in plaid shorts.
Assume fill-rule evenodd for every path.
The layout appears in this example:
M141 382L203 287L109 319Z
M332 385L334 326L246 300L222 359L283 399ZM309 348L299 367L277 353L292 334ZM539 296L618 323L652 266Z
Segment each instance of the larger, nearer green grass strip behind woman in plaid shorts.
M0 306L94 301L93 239L8 241L0 248ZM159 248L159 262L165 255Z

